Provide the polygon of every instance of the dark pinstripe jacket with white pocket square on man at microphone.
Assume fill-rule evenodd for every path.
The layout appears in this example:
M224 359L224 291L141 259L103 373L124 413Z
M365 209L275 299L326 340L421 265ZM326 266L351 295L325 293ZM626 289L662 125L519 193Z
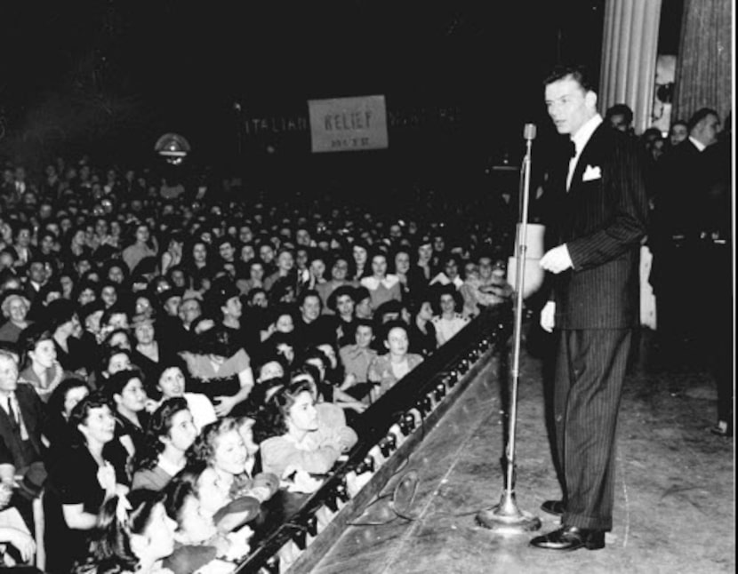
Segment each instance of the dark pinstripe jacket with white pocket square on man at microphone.
M646 186L635 142L600 124L576 164L554 177L551 245L566 243L574 268L554 275L558 329L638 325L638 263L646 235Z

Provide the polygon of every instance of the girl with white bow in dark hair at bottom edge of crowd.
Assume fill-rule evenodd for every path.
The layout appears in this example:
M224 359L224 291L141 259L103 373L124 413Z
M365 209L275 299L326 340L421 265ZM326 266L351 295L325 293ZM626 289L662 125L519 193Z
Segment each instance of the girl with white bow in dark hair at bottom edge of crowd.
M125 499L109 498L100 508L88 553L73 574L165 574L162 561L174 551L176 527L162 493L132 490Z

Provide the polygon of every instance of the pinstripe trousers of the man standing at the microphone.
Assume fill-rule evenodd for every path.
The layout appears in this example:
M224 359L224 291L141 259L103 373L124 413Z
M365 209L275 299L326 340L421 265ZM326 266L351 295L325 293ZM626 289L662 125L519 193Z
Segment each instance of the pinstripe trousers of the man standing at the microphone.
M554 420L567 526L613 527L615 434L631 335L558 331Z

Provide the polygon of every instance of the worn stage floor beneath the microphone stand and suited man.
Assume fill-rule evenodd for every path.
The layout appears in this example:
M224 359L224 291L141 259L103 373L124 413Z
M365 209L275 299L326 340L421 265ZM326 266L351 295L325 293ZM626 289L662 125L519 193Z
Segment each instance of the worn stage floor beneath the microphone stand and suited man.
M504 452L501 394L491 363L453 404L406 465L313 570L316 574L735 571L734 439L710 434L715 390L699 371L641 364L623 396L614 530L606 548L558 554L528 546L558 518L539 506L559 498L544 420L541 361L521 362L517 505L541 530L502 535L475 515L499 502ZM412 504L398 482L417 490ZM407 494L405 489L404 494ZM402 499L400 499L402 498Z

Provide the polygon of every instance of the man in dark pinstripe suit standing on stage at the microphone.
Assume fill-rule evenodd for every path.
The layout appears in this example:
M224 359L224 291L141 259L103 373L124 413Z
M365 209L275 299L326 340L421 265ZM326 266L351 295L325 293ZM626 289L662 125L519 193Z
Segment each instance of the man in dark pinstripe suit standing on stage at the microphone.
M552 174L556 246L541 259L552 274L541 326L558 336L554 417L563 479L563 499L541 508L560 514L562 526L531 544L595 550L613 522L615 429L638 326L646 190L632 140L602 123L582 68L558 68L544 84L549 116L574 149Z

